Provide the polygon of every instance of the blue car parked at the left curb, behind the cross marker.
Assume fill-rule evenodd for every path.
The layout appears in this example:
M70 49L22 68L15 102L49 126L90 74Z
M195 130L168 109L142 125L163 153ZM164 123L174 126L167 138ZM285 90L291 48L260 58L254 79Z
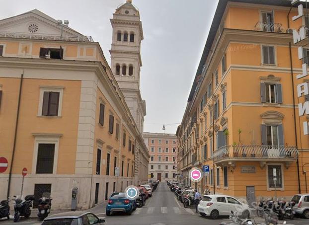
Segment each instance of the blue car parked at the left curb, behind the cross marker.
M112 212L124 212L131 215L136 207L136 201L127 199L124 192L114 192L108 199L106 216L110 216Z

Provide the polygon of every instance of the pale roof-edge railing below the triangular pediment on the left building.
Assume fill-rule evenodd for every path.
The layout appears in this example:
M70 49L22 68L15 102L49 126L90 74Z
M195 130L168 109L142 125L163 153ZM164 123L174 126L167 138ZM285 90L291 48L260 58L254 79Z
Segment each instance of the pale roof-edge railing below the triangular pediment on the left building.
M53 40L53 41L80 41L80 42L93 42L91 36L65 36L54 34L31 34L31 33L18 33L18 32L0 32L0 37L9 38L25 38L37 40Z

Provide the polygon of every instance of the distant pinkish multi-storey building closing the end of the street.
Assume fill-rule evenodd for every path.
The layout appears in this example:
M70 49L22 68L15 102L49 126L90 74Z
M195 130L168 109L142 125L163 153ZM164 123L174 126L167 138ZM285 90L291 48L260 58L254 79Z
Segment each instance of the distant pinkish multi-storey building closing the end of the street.
M177 179L177 137L173 134L144 133L150 160L150 179L160 182Z

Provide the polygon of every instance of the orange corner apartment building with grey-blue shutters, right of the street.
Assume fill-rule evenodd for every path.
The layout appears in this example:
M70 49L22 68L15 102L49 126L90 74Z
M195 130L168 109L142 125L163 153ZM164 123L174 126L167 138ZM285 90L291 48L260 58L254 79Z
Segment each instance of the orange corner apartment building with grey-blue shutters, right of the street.
M308 192L309 112L299 112L308 95L297 93L309 81L297 78L308 54L299 60L293 29L309 23L296 15L289 0L219 0L176 133L183 182L190 168L209 165L191 184L200 191L248 203Z

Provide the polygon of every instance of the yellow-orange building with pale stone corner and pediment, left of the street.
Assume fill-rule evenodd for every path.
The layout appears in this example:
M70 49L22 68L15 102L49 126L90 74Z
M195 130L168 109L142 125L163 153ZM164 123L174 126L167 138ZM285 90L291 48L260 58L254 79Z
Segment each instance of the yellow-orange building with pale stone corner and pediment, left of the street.
M149 153L100 45L32 10L0 20L0 199L51 192L53 209L147 182ZM117 169L119 167L119 176Z

